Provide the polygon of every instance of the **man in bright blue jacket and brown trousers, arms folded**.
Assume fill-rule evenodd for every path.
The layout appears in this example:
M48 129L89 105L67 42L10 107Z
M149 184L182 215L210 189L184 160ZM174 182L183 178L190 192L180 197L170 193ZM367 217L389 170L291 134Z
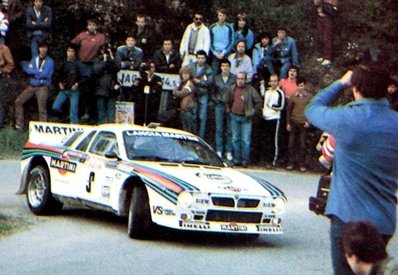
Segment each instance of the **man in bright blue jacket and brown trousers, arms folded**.
M23 105L34 95L39 108L39 120L47 121L47 97L54 73L54 60L47 55L48 44L39 42L39 55L28 62L22 63L23 71L29 75L29 86L15 100L15 128L25 129Z

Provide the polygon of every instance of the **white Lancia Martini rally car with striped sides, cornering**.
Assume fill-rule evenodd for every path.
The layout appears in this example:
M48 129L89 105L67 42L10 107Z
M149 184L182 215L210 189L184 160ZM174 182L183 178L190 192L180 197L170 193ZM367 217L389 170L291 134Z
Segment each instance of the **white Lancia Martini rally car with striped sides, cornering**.
M286 197L227 167L197 136L149 125L31 122L19 194L37 215L76 202L128 216L128 235L181 230L280 234Z

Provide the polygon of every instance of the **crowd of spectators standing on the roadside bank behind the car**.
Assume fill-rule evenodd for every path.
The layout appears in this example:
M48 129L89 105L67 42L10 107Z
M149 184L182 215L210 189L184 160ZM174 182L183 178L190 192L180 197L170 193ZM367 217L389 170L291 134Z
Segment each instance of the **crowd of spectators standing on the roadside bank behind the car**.
M12 31L11 18L21 16L22 10L18 0L3 2L1 77L15 67L7 32ZM328 15L322 13L319 1L314 4L325 21ZM65 59L55 62L49 55L48 39L54 22L52 8L44 0L35 0L22 16L26 17L31 60L21 63L29 85L15 99L16 129L26 129L24 105L32 97L37 99L40 121L55 117L72 124L113 123L116 102L134 102L135 124L161 122L193 132L214 144L217 154L232 165L247 167L256 159L267 168L284 165L289 170L307 170L312 149L308 133L315 128L306 120L304 109L312 93L300 76L296 40L287 27L280 26L274 33L256 32L245 12L228 18L223 8L216 11L215 22L206 25L203 13L197 11L179 47L174 47L177 43L170 34L157 35L148 17L137 14L125 43L114 49L99 22L90 18L86 29L68 41ZM330 66L332 49L322 39L321 59L327 60L322 65ZM137 73L131 86L118 80L121 70ZM179 76L174 90L164 89L158 73ZM2 83L3 78L0 95ZM396 88L390 90L396 102ZM57 93L53 102L48 102L50 91Z

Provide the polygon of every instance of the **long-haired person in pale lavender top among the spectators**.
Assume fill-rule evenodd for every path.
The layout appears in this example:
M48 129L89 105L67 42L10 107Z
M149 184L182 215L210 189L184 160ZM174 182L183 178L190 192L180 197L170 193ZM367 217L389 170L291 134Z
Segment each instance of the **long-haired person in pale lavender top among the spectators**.
M246 81L250 83L253 79L253 64L250 57L245 53L245 41L236 43L235 50L235 53L228 56L228 60L231 62L231 73L237 75L239 72L244 72L246 74Z

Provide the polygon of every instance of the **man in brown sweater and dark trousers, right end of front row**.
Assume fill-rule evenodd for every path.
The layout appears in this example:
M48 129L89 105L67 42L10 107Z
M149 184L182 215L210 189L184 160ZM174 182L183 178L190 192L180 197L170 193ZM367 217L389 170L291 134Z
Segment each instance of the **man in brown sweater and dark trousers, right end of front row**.
M292 170L298 164L301 172L307 171L305 140L310 127L304 109L312 97L305 84L304 78L297 79L296 93L289 98L286 108L286 130L289 132L289 163L286 169Z

